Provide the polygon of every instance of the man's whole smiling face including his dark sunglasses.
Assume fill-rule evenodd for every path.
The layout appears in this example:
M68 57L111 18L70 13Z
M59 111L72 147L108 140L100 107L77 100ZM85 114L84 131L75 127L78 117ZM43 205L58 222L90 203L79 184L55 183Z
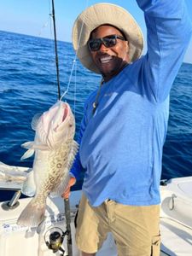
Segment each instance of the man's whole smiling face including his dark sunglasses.
M129 44L122 32L110 25L97 27L90 33L90 54L107 82L129 63Z

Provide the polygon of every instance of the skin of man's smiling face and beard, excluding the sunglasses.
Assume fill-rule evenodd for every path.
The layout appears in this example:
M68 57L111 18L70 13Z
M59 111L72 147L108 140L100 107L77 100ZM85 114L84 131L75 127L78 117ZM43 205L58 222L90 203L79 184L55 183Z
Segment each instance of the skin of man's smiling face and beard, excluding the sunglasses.
M91 33L90 39L106 38L111 35L123 37L122 33L117 28L109 25L102 25L97 27L96 30ZM100 49L96 51L90 50L90 54L96 67L101 71L106 81L119 73L122 67L129 62L128 42L117 38L116 43L117 44L112 47L106 47L104 44L101 44Z

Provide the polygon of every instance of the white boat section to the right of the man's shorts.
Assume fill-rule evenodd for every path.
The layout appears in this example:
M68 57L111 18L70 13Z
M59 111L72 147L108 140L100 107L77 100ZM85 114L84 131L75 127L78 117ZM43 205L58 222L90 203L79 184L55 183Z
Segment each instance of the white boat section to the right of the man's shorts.
M161 187L161 248L168 255L192 255L192 177Z

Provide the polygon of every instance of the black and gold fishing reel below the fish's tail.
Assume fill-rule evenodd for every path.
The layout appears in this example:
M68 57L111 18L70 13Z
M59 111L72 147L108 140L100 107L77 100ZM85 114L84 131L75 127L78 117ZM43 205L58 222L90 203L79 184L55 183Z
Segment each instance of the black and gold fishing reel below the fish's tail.
M61 255L64 255L65 250L61 247L62 242L64 241L65 236L67 235L67 231L63 232L60 228L51 228L46 231L44 234L44 241L53 253L61 251Z

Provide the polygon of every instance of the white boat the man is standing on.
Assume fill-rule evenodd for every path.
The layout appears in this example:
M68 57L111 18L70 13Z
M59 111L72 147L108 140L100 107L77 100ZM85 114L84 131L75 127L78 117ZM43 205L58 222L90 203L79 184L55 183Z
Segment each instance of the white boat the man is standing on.
M5 178L5 169L9 176ZM15 190L11 201L0 203L0 255L3 256L49 256L68 255L67 221L62 198L48 198L43 227L27 227L16 224L20 212L32 199L21 198L22 183L29 168L8 166L0 163L0 189ZM19 177L11 181L10 174ZM23 173L23 174L22 174ZM15 179L16 180L16 179ZM176 177L160 183L160 255L192 255L192 176ZM73 256L79 255L75 245L75 216L81 190L70 196L70 227ZM112 234L96 256L117 256Z

